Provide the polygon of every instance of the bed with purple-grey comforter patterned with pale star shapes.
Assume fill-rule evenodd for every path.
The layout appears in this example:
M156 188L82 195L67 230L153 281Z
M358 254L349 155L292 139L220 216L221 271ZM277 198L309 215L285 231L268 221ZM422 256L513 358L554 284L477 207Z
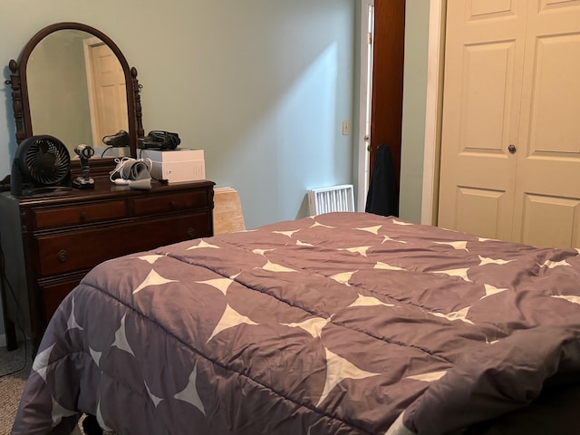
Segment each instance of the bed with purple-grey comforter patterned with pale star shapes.
M368 213L160 247L63 301L12 434L575 433L579 304L578 249Z

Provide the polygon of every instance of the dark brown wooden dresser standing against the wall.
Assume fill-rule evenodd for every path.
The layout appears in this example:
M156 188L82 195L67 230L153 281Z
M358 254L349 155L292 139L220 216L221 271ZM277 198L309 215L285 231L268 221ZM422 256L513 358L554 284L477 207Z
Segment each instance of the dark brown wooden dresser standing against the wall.
M0 258L6 346L22 327L34 349L58 304L93 266L213 235L211 181L134 190L97 179L95 189L0 195ZM3 262L1 260L4 260Z

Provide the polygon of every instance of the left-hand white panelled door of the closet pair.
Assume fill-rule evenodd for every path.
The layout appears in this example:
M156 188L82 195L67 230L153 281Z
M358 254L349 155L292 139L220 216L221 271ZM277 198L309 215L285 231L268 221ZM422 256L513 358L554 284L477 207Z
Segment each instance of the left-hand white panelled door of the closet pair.
M527 0L448 2L439 225L511 236Z

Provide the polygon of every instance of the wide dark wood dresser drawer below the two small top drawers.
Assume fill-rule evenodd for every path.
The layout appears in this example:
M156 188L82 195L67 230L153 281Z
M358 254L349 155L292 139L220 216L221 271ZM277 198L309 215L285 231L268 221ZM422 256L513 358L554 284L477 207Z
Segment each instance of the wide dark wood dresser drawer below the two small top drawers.
M37 237L40 275L88 269L115 256L209 237L210 211Z

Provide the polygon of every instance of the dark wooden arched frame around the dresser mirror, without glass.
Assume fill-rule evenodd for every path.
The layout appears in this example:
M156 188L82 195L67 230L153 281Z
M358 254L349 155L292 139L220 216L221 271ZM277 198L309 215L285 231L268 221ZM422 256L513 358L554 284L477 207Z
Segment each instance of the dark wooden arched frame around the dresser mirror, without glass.
M121 68L125 75L125 89L127 96L127 118L129 124L129 146L131 149L131 157L137 157L137 140L145 135L142 125L142 112L140 102L140 84L137 80L137 70L129 67L129 63L125 56L119 49L116 43L113 43L111 38L101 31L91 27L90 25L81 23L57 23L44 27L37 34L34 34L32 39L26 43L22 55L20 56L20 63L14 59L10 61L8 67L10 68L10 80L6 84L12 87L12 107L14 110L14 121L16 122L16 142L20 143L26 138L33 136L32 117L30 114L30 101L28 95L28 82L26 77L26 66L31 53L38 43L40 43L46 36L53 34L59 30L80 30L88 34L92 34L106 43L113 53L119 59ZM81 163L78 160L71 160L73 173L81 171ZM114 160L112 158L94 159L91 160L91 172L94 176L108 176L109 171L114 168Z

